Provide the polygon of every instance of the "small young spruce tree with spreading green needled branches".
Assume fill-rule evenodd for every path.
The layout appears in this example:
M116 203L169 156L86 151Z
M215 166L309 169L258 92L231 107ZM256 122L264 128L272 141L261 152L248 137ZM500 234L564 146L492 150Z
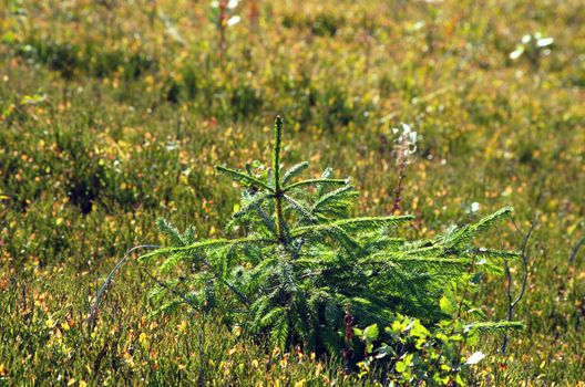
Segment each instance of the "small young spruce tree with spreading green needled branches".
M271 168L257 163L245 170L216 167L243 186L242 203L229 222L243 237L195 242L188 230L181 234L160 220L170 245L142 257L165 257L160 268L166 272L179 263L191 268L178 271L183 281L177 287L189 289L198 304L222 300L220 308L238 311L229 313L230 320L280 348L300 345L337 356L345 345L345 313L361 325L389 324L401 313L433 326L454 315L442 302L447 289L466 289L483 268L514 257L471 244L507 218L511 208L420 241L393 237L411 216L351 217L357 191L349 179L326 170L320 178L294 181L308 164L283 167L283 126L277 117ZM378 336L373 326L363 332L367 353Z

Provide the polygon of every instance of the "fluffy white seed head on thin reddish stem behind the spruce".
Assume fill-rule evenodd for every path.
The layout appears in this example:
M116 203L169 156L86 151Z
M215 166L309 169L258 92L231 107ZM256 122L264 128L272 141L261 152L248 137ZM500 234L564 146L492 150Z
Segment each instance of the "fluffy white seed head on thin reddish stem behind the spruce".
M396 136L393 145L393 156L398 167L398 180L394 186L394 200L391 213L396 213L400 209L402 201L403 181L407 172L407 166L414 159L417 153L418 133L411 127L401 123L401 128L392 128L392 134Z

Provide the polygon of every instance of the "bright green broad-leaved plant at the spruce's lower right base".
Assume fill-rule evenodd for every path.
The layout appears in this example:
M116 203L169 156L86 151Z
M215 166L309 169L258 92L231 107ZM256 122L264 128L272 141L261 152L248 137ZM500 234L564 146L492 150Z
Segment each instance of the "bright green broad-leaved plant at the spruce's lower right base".
M482 333L520 328L520 323L465 325L450 320L428 330L420 320L397 314L382 334L376 324L363 331L355 330L365 342L367 354L358 364L358 376L362 378L376 368L387 383L468 386L471 367L485 355L475 352L468 356L464 349L474 346ZM376 348L373 343L378 343Z

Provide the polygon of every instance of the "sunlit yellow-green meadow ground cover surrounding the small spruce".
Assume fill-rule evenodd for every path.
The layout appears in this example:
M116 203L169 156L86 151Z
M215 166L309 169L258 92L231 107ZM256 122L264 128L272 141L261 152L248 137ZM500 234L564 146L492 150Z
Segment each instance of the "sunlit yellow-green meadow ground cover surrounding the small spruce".
M352 176L360 213L392 209L391 128L422 135L403 182L409 237L506 205L524 232L536 219L515 312L526 330L505 357L481 343L478 378L584 380L585 250L569 262L585 233L584 6L258 3L257 23L238 6L220 55L205 2L0 1L0 386L192 385L202 365L209 385L355 385L213 315L148 320L153 283L132 262L84 324L115 261L161 242L158 216L222 234L238 198L213 166L259 159L276 113L287 161L317 155L314 172ZM511 60L535 32L551 53ZM523 237L510 224L489 238L519 249ZM482 282L485 312L504 318L506 283Z

